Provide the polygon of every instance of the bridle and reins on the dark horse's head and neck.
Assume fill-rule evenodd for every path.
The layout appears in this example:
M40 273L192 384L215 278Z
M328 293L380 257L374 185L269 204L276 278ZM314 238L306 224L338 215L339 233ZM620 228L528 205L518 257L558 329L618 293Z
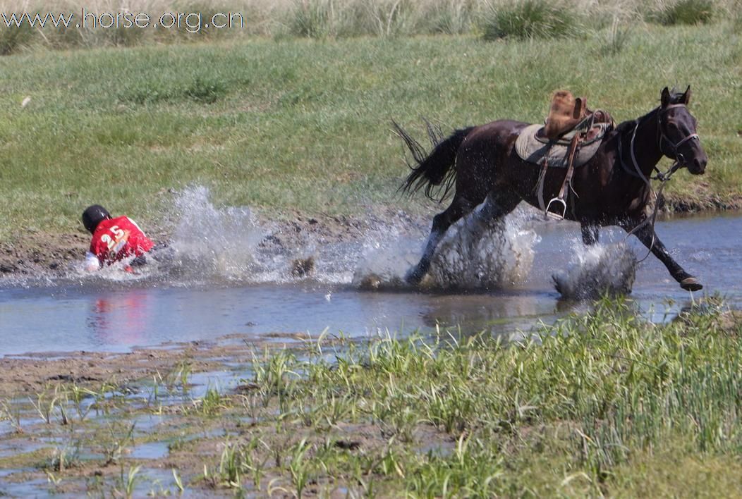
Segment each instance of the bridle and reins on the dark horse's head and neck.
M641 124L641 122L643 121L643 119L646 118L646 116L649 116L649 115L646 115L646 116L644 116L641 119L637 119L636 125L634 125L634 131L631 132L631 144L629 145L629 151L631 152L631 163L634 166L635 172L634 171L631 171L626 166L626 164L623 162L623 144L622 144L622 141L621 141L621 138L622 138L623 134L619 135L619 137L618 137L618 159L619 159L619 162L621 164L621 167L623 168L624 171L626 171L626 173L628 173L628 174L630 174L632 176L637 176L640 179L642 179L644 181L644 183L646 183L646 185L649 187L649 190L651 191L651 193L654 194L654 209L652 210L651 217L648 217L648 218L644 219L643 222L641 222L636 227L632 228L631 231L629 231L628 234L626 234L626 237L623 239L624 242L626 242L626 239L628 239L628 237L631 236L631 234L634 234L635 232L639 231L645 225L649 224L651 226L651 244L649 245L649 251L647 251L647 254L644 255L644 257L641 260L638 260L637 263L641 263L644 260L646 260L647 257L649 257L649 254L651 254L652 248L654 248L654 241L657 239L657 236L655 236L655 234L654 234L654 223L657 221L657 212L660 209L659 200L660 200L660 196L662 196L662 191L665 188L665 185L667 184L667 182L669 182L669 180L672 177L672 175L676 171L680 170L680 168L683 168L683 166L685 165L685 158L683 157L683 154L682 153L678 153L677 152L677 148L679 148L680 145L683 145L683 144L685 144L686 142L688 142L689 140L692 140L692 139L697 139L697 140L700 141L700 136L698 136L697 133L691 133L688 136L683 137L683 139L681 139L680 142L677 142L677 144L673 144L672 141L668 138L668 136L665 135L665 132L664 132L664 130L662 128L662 113L664 113L668 109L677 108L679 106L685 106L685 105L684 104L672 104L672 105L667 106L664 109L657 108L657 148L660 149L660 152L663 153L664 156L672 157L669 154L665 153L665 151L663 151L663 148L662 148L663 142L662 141L665 140L666 142L668 142L672 146L672 151L673 151L673 156L674 156L674 163L668 169L668 171L666 171L664 173L663 173L663 171L660 171L660 168L657 168L657 165L653 165L652 166L652 168L654 169L654 171L657 172L657 175L651 176L651 174L650 174L649 179L659 180L660 182L662 182L660 184L659 191L655 192L654 189L652 189L651 182L643 174L641 168L639 167L639 162L637 162L636 154L634 153L634 139L636 139L636 137L637 137L637 130L639 129L639 125Z

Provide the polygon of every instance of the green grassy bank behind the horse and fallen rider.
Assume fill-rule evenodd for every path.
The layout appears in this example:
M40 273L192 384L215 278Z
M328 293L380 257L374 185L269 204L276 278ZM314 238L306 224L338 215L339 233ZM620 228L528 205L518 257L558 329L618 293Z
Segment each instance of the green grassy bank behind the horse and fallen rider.
M420 116L444 130L540 122L562 87L623 120L657 105L662 87L692 85L709 168L677 175L669 195L738 202L738 23L627 33L617 50L606 27L559 42L247 38L6 56L0 240L82 230L79 214L93 202L158 222L168 189L192 184L272 216L418 209L424 202L395 194L406 167L391 119L419 133Z

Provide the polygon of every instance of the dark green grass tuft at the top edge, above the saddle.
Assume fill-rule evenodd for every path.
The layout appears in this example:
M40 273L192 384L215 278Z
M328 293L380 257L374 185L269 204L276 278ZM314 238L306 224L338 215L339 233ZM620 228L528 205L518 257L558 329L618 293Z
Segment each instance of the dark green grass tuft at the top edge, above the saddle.
M577 35L580 15L564 4L525 0L493 7L485 18L485 40L568 38Z

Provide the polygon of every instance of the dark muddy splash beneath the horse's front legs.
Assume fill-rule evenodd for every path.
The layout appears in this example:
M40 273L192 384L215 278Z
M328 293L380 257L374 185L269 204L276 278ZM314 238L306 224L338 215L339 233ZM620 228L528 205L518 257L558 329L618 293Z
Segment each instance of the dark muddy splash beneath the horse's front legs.
M636 267L637 259L626 242L585 246L576 241L569 267L551 278L562 297L588 300L631 293Z

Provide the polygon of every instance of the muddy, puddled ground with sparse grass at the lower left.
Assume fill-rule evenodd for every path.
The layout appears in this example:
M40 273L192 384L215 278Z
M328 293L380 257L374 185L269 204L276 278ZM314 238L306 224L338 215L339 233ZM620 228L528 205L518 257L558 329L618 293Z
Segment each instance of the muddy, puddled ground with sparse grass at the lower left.
M298 414L277 419L285 410L280 385L285 381L289 389L296 374L272 378L276 360L295 366L309 351L316 355L311 346L316 339L308 340L294 333L257 339L232 334L130 354L4 357L0 493L143 497L173 495L183 487L197 496L230 497L243 480L251 480L247 490L288 497L297 485L282 468L301 459L296 452L309 450L309 457L328 446L332 452L384 455L390 446L384 423L325 423L317 417L310 424ZM347 345L322 341L328 351ZM425 423L410 428L409 438L421 449L444 454L456 443ZM252 447L257 443L259 448ZM252 452L255 457L249 457ZM246 461L252 459L253 474ZM309 497L346 497L354 486L317 477L299 487Z

